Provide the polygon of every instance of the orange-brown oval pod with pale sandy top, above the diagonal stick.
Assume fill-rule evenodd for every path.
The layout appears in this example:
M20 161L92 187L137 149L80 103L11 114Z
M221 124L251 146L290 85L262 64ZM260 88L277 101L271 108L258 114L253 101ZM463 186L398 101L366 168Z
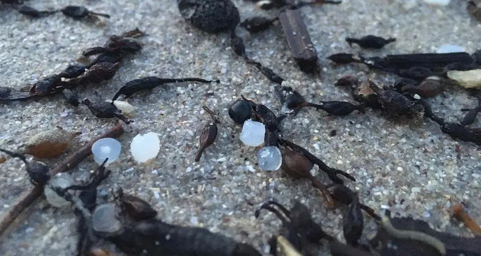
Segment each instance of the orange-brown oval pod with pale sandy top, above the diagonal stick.
M63 154L71 145L72 139L80 132L66 131L56 127L40 132L26 143L26 153L37 158L55 158Z

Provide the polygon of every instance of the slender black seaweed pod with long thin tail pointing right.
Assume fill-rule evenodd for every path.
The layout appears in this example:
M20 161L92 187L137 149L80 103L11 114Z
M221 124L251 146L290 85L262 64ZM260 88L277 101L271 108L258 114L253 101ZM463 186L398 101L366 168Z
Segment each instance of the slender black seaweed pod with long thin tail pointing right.
M112 101L116 100L120 95L125 95L125 97L128 98L136 92L151 90L156 88L157 86L160 86L166 83L182 83L182 82L219 83L220 81L219 80L210 81L210 80L205 80L201 78L192 78L192 77L189 77L189 78L144 77L144 78L134 79L132 81L127 82L115 94L115 96L112 98Z

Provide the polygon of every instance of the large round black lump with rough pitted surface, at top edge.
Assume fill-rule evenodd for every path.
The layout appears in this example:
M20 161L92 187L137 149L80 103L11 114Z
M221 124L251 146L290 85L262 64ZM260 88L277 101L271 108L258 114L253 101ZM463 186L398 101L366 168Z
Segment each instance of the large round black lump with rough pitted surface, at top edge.
M239 12L230 0L177 0L180 15L192 26L208 33L235 29Z

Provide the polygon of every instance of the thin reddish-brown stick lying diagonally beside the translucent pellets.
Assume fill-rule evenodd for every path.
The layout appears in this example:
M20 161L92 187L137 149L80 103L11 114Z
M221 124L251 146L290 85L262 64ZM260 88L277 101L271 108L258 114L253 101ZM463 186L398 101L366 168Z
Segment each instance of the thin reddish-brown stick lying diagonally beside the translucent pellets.
M82 162L82 160L87 158L92 153L92 145L97 140L102 138L118 138L123 133L124 129L122 128L122 125L119 124L102 136L90 141L87 145L68 156L62 163L57 165L52 170L52 176L57 173L69 171L71 168ZM37 197L42 194L43 189L43 186L31 186L27 191L20 195L17 202L2 216L2 218L0 218L0 236L2 236L7 228L15 221L17 216L20 215L20 213L29 207L37 199Z

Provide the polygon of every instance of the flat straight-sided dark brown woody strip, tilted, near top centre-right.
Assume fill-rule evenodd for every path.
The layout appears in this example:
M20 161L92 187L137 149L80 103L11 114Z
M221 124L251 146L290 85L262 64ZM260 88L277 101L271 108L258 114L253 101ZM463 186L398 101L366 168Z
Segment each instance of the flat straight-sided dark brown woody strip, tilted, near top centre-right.
M319 71L319 58L299 9L285 9L279 14L289 48L299 68L307 73Z

